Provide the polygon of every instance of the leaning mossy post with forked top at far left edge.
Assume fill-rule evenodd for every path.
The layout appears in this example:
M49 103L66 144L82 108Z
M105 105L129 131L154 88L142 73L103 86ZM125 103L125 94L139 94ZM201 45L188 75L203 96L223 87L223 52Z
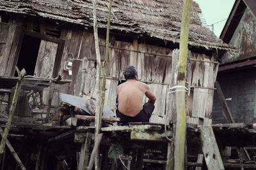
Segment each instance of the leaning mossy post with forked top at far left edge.
M24 78L24 76L26 74L25 69L22 69L22 71L19 71L18 67L15 66L15 68L17 70L19 78L17 80L17 85L15 87L15 92L14 92L13 99L12 99L12 104L11 104L11 107L10 107L10 113L9 113L8 121L6 122L6 125L5 125L5 128L4 128L4 133L3 133L3 138L2 138L1 144L0 144L0 161L2 160L2 157L3 157L6 139L7 139L8 133L10 131L11 124L12 124L12 117L13 117L13 114L14 114L14 111L15 111L15 108L16 108L16 105L17 105L17 101L19 99L21 82L22 82L22 79Z

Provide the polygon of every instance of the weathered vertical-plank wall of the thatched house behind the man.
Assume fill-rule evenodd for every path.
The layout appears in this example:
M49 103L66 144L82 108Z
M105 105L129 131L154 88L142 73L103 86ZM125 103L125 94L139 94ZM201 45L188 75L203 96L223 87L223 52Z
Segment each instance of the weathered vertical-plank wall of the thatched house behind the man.
M15 21L9 23L9 27L16 28L19 26L14 23ZM27 31L40 32L40 34L44 36L46 32L45 30L49 30L49 26L48 29L45 29L47 21L40 20L39 23L39 25L36 25L35 20L22 20L22 28ZM95 98L96 56L93 32L83 30L82 27L67 23L60 27L52 26L52 28L54 27L58 27L58 30L60 30L59 38L57 34L57 38L55 36L55 40L53 41L51 40L51 36L49 39L48 34L47 41L42 39L39 50L40 54L38 54L40 57L38 58L36 73L38 71L40 73L42 72L42 68L39 66L39 63L42 64L42 62L40 62L41 59L46 57L50 60L50 57L53 62L54 59L52 59L52 55L56 55L56 57L58 57L56 53L58 53L58 50L61 48L60 42L63 41L65 43L61 48L61 58L56 59L56 62L58 62L55 64L56 67L52 64L51 67L48 67L48 71L43 71L44 73L47 73L47 75L44 76L52 76L58 73L63 76L63 79L72 80L72 83L61 86L61 92L75 96L83 94L83 97ZM3 26L3 29L6 28ZM20 27L19 29L8 30L8 41L20 36L20 33L17 30L20 30ZM4 37L2 39L4 39ZM17 42L21 41L20 39L16 40ZM105 57L106 43L104 35L100 35L99 40L100 54L103 60ZM51 45L52 49L47 48L47 43L51 43L53 45ZM12 46L13 44L11 47ZM15 45L15 47L12 48L19 50L19 45ZM43 48L47 53L42 52ZM58 48L58 50L56 48ZM15 66L17 62L17 56L19 56L19 52L17 53L17 50L9 50L8 52L10 55L4 54L1 58L0 64L1 66L4 65L4 67L0 67L1 75L11 75L6 73L10 72L7 71L8 69L14 69L13 66ZM82 77L83 57L87 58L84 66L84 77ZM7 63L7 61L10 63ZM68 71L64 70L65 62L67 61L72 61L72 75L68 74ZM188 105L188 117L191 117L188 121L191 123L198 124L199 118L209 118L211 115L213 87L216 78L216 71L218 69L217 63L218 62L216 62L216 59L214 59L213 56L191 53L190 71L188 73L188 85L192 87ZM44 67L43 65L41 67ZM109 64L106 81L108 90L106 90L105 100L105 103L108 104L112 110L116 109L116 87L118 86L118 82L124 80L122 71L127 65L133 65L138 69L138 77L140 81L147 83L157 97L156 108L150 121L163 123L164 116L168 113L168 92L170 88L169 84L172 70L172 49L138 43L137 39L134 39L133 43L116 41L115 36L113 36L109 49ZM84 88L81 87L82 84L84 84ZM146 102L146 97L143 99L143 102Z

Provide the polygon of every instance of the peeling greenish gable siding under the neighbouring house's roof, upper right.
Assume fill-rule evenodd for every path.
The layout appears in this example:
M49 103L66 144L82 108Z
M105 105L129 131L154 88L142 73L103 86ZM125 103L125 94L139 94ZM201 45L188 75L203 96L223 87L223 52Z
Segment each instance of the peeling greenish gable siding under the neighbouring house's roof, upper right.
M221 64L236 60L248 59L256 55L256 19L252 11L246 8L236 31L230 39L230 45L235 46L238 52L234 56L229 53L223 55Z

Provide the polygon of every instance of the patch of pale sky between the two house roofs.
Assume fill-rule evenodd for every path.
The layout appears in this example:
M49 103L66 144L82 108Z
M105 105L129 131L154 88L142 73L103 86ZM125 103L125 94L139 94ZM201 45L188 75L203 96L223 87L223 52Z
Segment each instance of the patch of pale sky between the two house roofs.
M226 24L228 15L232 10L235 0L193 0L199 4L202 10L202 17L205 20L204 26L207 25L214 34L220 37L221 31Z

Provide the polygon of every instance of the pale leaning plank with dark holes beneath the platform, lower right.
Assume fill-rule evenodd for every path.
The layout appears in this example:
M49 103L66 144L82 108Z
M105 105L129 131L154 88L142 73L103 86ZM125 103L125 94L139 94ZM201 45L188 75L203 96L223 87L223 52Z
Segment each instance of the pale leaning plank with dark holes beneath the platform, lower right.
M209 170L220 169L224 170L223 162L221 160L220 151L216 143L212 127L201 126L201 140L202 150L204 152L204 159ZM210 147L211 146L211 147Z

